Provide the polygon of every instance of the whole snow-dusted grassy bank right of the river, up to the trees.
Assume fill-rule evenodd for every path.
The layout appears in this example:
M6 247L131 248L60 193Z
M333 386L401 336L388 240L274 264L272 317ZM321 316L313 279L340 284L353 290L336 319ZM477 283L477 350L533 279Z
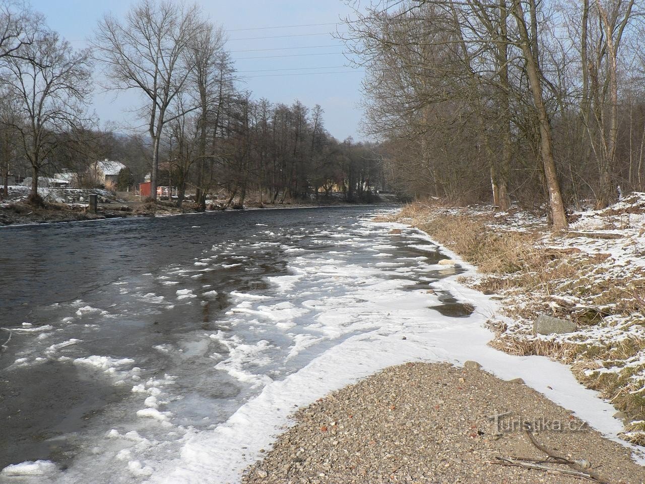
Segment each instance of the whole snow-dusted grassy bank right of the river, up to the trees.
M486 323L492 347L571 365L581 383L622 410L622 438L645 443L645 194L574 212L570 228L556 234L518 208L415 203L387 219L421 228L477 265L479 274L462 283L500 301ZM539 314L575 330L534 334Z

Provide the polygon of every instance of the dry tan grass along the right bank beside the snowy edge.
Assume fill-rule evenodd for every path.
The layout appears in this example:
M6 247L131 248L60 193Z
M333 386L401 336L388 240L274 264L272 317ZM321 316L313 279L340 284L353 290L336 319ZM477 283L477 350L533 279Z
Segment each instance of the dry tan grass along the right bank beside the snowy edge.
M502 315L517 325L493 319L496 334L491 346L509 354L539 355L571 365L576 378L600 392L617 408L637 419L624 438L645 443L645 388L634 378L645 372L640 361L645 339L633 335L633 325L645 327L645 274L639 268L611 268L602 264L609 254L586 254L575 248L553 248L542 243L545 232L503 231L492 213L450 210L414 203L387 221L410 223L442 245L477 265L481 277L470 286L504 297ZM575 321L579 332L568 339L537 338L530 323L538 314ZM626 322L627 321L627 322ZM510 323L509 323L510 324ZM593 339L585 330L599 329L620 339ZM611 371L602 371L611 368ZM599 370L600 371L594 371Z

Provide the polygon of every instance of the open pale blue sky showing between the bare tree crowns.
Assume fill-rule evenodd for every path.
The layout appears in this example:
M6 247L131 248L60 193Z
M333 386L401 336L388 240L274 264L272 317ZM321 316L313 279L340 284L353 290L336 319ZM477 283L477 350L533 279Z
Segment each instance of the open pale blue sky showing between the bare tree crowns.
M110 10L122 17L133 3L134 0L31 0L34 10L45 14L48 25L75 47L86 45L85 39L92 36L104 12ZM229 39L226 48L232 52L239 76L246 77L240 86L251 90L255 99L266 97L273 103L285 104L299 99L310 107L318 103L323 106L325 125L333 136L340 140L347 136L363 138L358 132L362 112L357 106L361 99L362 72L348 67L342 43L330 35L337 26L260 30L338 23L339 17L351 13L341 0L198 0L197 3L204 14L226 30ZM338 28L342 31L342 24ZM290 37L275 38L284 35ZM252 52L236 52L245 50ZM283 57L269 57L277 55ZM303 72L317 74L299 74ZM319 74L324 72L334 74ZM137 123L130 119L128 111L137 107L139 98L134 94L121 94L116 99L114 96L95 93L94 109L101 124L115 121L119 129L135 126Z

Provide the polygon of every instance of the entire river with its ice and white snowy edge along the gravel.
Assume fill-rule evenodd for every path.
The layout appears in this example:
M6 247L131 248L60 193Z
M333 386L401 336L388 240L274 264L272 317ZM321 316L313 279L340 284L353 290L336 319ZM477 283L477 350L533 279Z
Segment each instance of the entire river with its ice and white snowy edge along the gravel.
M48 461L40 483L239 483L297 408L410 361L478 361L618 441L615 408L568 367L487 345L499 301L458 281L476 268L417 228L373 222L394 212L7 230L1 376L30 392L12 394L0 467Z

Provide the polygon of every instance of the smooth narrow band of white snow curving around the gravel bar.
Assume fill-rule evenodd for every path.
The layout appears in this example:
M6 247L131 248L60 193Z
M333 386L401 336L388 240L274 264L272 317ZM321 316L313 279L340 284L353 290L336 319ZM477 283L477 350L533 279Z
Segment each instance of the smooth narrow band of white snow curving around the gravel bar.
M373 223L373 226L388 230L410 228L399 223ZM460 276L475 274L476 267L464 263L457 254L420 230L417 232L419 238L439 246L441 254L466 270ZM470 359L501 379L522 378L526 385L572 410L577 418L607 438L633 449L633 458L645 465L644 449L617 437L623 427L619 419L612 417L615 408L599 399L597 392L578 383L566 365L539 356L510 356L487 346L493 334L484 328L484 322L495 312L497 303L490 296L458 283L460 276L446 277L433 287L450 291L458 300L473 304L475 312L469 318L458 323L448 321L447 325L428 330L424 319L429 315L419 309L419 319L398 331L375 330L347 339L297 373L267 385L259 396L244 404L217 429L194 436L184 445L181 458L165 463L164 472L155 473L149 482L236 483L241 472L262 457L260 450L268 449L277 434L293 424L290 415L295 407L309 405L357 379L408 361L446 361L461 366ZM432 318L436 320L436 314Z

